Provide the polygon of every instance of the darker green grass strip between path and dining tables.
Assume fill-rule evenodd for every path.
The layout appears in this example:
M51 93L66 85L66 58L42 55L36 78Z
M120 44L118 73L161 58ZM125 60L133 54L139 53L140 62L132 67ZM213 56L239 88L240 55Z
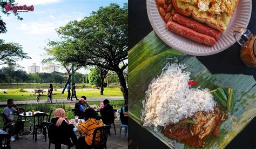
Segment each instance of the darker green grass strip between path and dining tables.
M90 106L93 106L93 105L99 106L100 101L88 101L88 103L90 104ZM113 100L113 101L110 101L110 104L113 106L114 109L120 109L124 104L124 100ZM68 112L69 119L75 119L75 116L71 111L71 109L74 109L75 105L74 104L71 105L70 103L65 103L64 101L58 104L26 104L26 105L19 105L18 107L22 107L23 109L25 109L25 111L35 110L35 111L41 111L46 113L50 113L51 109L57 109L61 107L66 112ZM5 106L0 107L0 111L3 112L4 108ZM15 120L16 119L17 119L17 116L15 116ZM3 128L3 126L4 126L3 120L0 120L0 127ZM28 124L25 123L25 126L28 126Z

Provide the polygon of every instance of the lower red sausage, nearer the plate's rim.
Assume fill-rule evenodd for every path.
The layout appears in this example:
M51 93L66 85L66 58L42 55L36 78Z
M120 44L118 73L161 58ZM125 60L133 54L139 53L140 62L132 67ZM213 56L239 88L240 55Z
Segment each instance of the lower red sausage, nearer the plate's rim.
M203 43L206 45L213 46L216 44L216 40L208 35L204 35L203 33L196 32L190 28L187 28L183 25L180 25L178 23L169 21L166 25L167 29L181 35L184 37L187 37L188 39L191 39L198 43Z

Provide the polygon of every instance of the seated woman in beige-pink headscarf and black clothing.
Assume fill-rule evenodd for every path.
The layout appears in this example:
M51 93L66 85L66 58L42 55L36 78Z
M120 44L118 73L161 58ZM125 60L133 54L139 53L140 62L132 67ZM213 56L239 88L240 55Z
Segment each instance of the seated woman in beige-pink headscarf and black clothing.
M58 138L56 139L59 139L61 143L68 145L69 147L73 146L74 144L77 147L78 140L75 132L73 132L73 128L75 126L66 123L66 120L68 121L68 119L65 120L64 117L65 111L62 108L56 109L53 113L51 123L59 127ZM72 140L73 144L71 143L70 139Z

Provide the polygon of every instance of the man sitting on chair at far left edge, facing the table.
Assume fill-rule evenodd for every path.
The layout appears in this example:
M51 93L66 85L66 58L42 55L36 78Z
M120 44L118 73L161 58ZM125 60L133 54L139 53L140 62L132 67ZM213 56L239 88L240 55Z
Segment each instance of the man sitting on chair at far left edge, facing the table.
M8 99L7 106L4 109L4 118L6 123L12 122L15 124L15 130L12 135L16 136L15 134L18 134L21 130L23 130L24 123L23 121L15 121L14 113L19 114L18 106L14 104L14 99ZM14 136L11 136L11 141L15 141ZM21 138L21 136L18 135L18 138Z

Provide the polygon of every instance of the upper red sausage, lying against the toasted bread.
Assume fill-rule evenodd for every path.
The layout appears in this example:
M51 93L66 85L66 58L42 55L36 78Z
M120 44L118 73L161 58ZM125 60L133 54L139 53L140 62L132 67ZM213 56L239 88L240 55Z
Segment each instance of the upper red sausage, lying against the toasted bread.
M194 21L193 19L187 18L183 15L180 15L176 13L172 20L176 23L179 23L180 25L186 26L187 28L190 28L194 31L203 33L205 35L213 37L215 40L220 39L221 33L218 30L215 30L213 28L210 28L209 26L206 26L202 23L199 23L197 21Z

